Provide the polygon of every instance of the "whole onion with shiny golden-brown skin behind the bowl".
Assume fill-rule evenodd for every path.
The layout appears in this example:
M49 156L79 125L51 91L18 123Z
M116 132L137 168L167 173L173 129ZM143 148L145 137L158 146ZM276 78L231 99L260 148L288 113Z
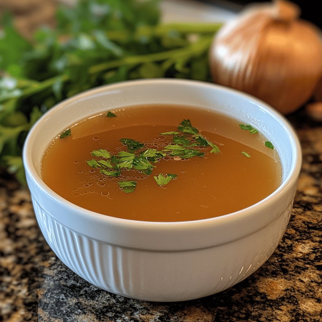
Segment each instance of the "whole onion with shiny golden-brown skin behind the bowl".
M322 42L297 5L252 5L215 36L210 68L216 83L250 93L284 114L305 103L322 75Z

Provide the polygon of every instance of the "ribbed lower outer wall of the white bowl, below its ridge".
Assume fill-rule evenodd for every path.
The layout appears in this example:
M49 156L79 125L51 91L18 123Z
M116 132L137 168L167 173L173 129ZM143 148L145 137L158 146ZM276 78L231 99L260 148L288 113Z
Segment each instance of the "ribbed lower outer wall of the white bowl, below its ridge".
M62 225L34 198L33 207L52 250L83 279L129 298L182 301L220 292L257 270L285 232L292 204L257 232L191 251L150 251L101 242Z

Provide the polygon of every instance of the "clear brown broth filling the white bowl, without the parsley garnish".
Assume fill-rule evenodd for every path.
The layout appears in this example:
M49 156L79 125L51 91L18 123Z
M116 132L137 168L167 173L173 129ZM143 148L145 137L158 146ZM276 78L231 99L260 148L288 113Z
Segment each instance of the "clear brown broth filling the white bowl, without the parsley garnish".
M271 194L281 183L281 165L276 150L264 146L260 134L242 130L237 120L211 110L186 106L147 105L112 111L90 117L71 127L72 135L52 141L42 160L43 181L57 194L91 211L119 218L175 222L199 220L232 213L255 204ZM181 159L171 157L154 164L152 175L137 170L111 178L90 168L86 160L92 150L106 149L111 154L126 151L120 138L131 138L146 148L162 149L189 118L194 127L221 153ZM190 137L188 135L188 137ZM242 155L247 152L251 157ZM167 185L156 184L154 175L178 175ZM136 190L126 194L118 181L137 181Z

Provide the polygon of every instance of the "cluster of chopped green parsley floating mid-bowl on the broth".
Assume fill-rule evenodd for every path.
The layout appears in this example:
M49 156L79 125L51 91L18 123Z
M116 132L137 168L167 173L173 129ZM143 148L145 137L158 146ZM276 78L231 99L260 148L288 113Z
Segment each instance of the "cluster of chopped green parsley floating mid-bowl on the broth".
M122 172L129 170L139 171L143 175L151 175L156 167L154 164L160 162L166 156L179 156L182 159L195 156L203 157L205 152L196 148L199 146L212 147L210 153L217 154L220 152L214 143L198 134L199 130L191 125L189 119L183 120L179 124L178 130L181 133L176 131L160 133L160 135L173 135L173 144L167 145L162 150L153 148L144 149L144 143L130 138L122 138L119 141L127 146L127 151L120 151L118 154L112 155L104 149L93 150L91 155L96 157L96 159L86 162L90 167L99 169L101 174L110 177L120 177ZM175 174L168 173L163 175L160 173L158 176L154 176L154 179L158 185L166 185L176 177L177 175ZM118 185L122 191L130 193L135 190L137 182L119 181Z

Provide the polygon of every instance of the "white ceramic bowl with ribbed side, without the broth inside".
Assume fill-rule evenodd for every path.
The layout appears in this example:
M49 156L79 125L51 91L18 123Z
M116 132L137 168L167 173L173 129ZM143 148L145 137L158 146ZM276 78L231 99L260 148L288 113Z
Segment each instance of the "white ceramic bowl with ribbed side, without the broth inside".
M43 153L64 129L95 113L148 103L213 109L259 128L279 152L282 184L264 200L235 213L158 223L85 210L43 183ZM34 125L23 158L39 226L62 262L99 288L150 301L214 294L257 270L285 232L301 165L296 134L274 109L222 86L173 79L117 83L61 102Z

